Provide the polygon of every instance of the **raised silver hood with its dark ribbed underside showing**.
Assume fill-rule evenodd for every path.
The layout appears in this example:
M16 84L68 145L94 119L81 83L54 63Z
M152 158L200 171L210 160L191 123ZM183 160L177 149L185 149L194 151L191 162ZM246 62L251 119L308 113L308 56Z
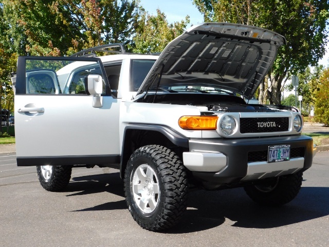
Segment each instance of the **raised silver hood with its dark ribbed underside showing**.
M280 34L259 27L192 26L161 52L137 94L157 86L188 85L221 88L251 98L284 43Z

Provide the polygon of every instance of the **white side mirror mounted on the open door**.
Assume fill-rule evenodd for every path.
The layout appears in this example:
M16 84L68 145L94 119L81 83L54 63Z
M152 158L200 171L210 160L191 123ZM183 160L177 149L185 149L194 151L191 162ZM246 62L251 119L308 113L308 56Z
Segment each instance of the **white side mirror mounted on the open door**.
M102 107L103 78L100 75L88 75L85 80L87 94L93 95L93 107Z

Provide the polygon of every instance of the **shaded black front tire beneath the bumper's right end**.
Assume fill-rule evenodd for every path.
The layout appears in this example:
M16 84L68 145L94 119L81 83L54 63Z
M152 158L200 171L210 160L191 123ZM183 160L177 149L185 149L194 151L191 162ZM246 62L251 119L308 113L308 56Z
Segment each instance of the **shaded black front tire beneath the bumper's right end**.
M302 186L303 173L285 175L244 189L255 202L266 206L280 206L293 200Z

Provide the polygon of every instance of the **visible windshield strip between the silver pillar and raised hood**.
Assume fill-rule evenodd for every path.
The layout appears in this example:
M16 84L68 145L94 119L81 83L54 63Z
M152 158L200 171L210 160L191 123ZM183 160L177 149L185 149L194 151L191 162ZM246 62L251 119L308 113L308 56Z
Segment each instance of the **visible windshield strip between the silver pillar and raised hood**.
M130 91L137 92L145 77L150 72L155 60L134 59L131 64Z

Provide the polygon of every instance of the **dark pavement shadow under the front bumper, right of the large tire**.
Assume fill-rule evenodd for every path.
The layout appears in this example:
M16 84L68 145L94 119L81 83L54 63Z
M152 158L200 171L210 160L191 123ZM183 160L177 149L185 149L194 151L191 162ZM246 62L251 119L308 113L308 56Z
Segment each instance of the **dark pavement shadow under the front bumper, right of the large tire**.
M244 228L274 228L329 215L329 188L302 187L292 202L263 207L251 201L242 188L190 193L182 221L166 233L204 231L221 224Z

